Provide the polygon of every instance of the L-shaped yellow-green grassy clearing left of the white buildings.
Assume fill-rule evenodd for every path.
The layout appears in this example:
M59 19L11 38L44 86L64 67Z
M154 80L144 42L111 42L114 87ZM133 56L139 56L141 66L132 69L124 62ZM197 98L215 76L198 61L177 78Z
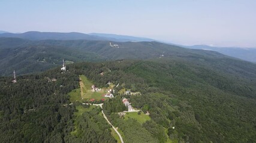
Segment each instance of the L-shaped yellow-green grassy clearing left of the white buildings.
M89 99L91 100L94 98L95 100L101 100L101 99L107 99L106 97L103 97L102 95L106 94L106 90L102 89L99 92L92 91L92 85L94 85L92 82L90 82L85 75L80 75L80 88L81 91L81 98L83 99Z

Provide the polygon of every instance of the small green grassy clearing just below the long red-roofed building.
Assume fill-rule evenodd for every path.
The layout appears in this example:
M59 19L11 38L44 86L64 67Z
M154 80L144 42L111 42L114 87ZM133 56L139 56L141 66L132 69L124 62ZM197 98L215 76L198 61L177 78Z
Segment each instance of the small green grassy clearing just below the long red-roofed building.
M125 114L125 120L129 118L137 120L141 125L147 120L150 120L150 117L143 112L141 112L141 114L138 114L137 112L127 112L127 114Z

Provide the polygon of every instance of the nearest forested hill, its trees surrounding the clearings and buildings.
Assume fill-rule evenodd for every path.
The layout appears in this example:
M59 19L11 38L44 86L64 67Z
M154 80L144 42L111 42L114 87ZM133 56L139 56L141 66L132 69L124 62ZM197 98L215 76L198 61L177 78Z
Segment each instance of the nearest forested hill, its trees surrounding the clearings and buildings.
M255 64L231 58L183 55L77 63L67 65L67 69L65 73L58 68L18 76L14 84L12 77L1 77L2 141L112 142L113 137L106 129L110 127L98 122L101 119L96 110L84 113L85 120L79 122L79 129L85 129L85 133L74 134L78 129L74 114L81 105L78 102L67 105L68 92L79 87L80 74L98 87L107 87L111 82L119 85L115 91L141 93L116 92L114 100L104 102L104 112L128 143L146 142L148 138L153 138L153 142L256 140ZM139 123L119 117L115 105L122 97L128 98L135 108L149 111L150 120Z

